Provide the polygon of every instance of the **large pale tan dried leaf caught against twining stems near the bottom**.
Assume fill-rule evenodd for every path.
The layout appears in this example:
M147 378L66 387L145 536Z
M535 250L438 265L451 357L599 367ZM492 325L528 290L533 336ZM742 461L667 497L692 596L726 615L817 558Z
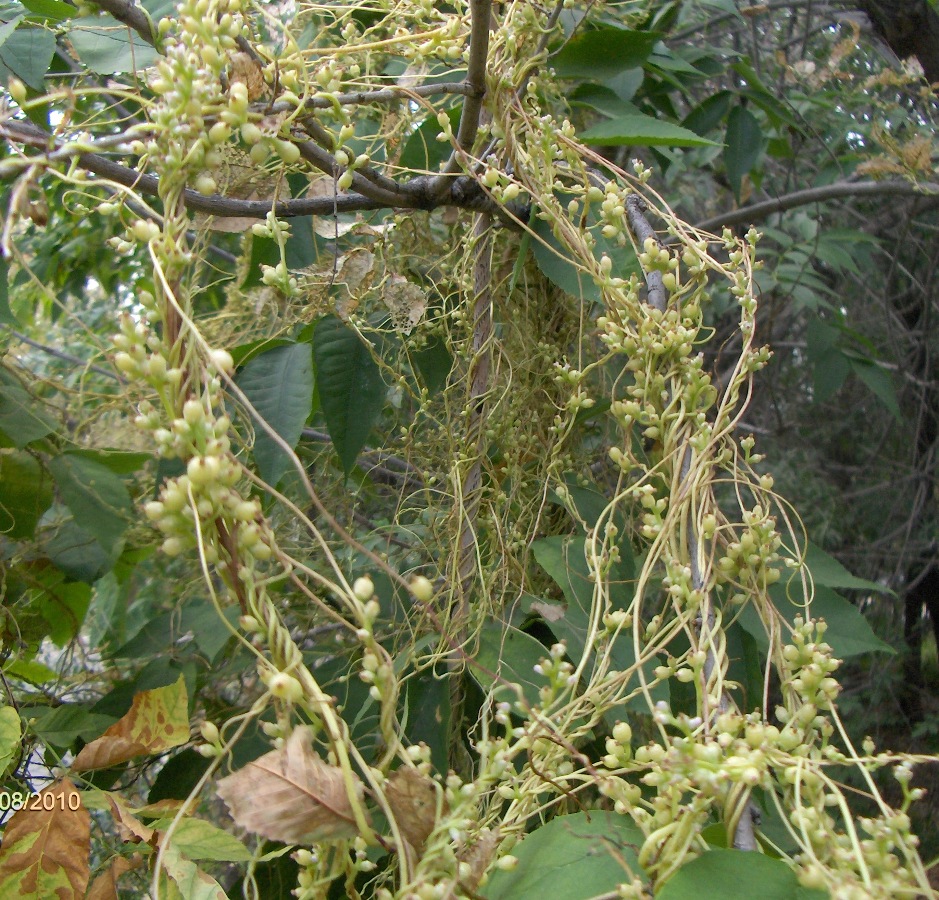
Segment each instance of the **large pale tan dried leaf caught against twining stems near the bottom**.
M358 778L355 789L361 796ZM294 729L280 750L223 778L218 795L238 825L272 841L310 844L358 834L342 769L312 749L307 728Z

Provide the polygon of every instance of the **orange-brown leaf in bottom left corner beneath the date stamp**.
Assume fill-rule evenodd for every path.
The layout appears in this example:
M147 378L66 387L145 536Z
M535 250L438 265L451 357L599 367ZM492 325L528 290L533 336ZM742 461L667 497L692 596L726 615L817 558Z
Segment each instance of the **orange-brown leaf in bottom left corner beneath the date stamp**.
M75 797L78 808L72 809ZM6 823L0 847L0 897L80 900L88 886L90 850L91 816L81 793L63 778Z

